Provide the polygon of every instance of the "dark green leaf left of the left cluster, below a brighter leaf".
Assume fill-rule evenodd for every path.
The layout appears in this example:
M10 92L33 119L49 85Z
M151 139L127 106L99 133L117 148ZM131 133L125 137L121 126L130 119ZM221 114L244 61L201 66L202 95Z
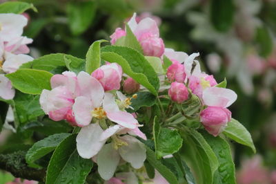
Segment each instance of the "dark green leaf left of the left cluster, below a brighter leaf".
M39 104L39 95L29 95L17 91L14 97L14 108L19 122L28 122L41 116L44 112Z

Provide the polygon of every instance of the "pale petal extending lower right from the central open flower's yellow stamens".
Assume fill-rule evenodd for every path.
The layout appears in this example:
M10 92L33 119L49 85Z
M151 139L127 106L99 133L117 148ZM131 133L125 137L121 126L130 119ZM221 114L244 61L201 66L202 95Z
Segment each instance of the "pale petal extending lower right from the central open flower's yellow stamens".
M117 112L107 112L107 117L112 122L117 122L117 124L128 129L135 129L138 125L138 121L132 116L131 113L124 111Z

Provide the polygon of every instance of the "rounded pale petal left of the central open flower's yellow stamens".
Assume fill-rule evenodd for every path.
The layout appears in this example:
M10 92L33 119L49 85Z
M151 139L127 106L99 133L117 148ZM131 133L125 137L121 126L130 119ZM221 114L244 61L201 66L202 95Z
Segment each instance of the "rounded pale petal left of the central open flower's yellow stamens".
M75 120L79 127L89 125L92 120L92 104L89 98L80 96L75 99L72 107Z

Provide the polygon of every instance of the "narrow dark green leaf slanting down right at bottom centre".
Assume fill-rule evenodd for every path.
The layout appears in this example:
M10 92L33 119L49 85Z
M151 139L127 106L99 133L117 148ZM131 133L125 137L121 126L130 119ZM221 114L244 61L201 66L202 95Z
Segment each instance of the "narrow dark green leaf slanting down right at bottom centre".
M173 174L170 169L168 169L165 165L161 163L160 160L157 160L155 158L155 152L152 151L149 147L146 147L146 154L147 154L147 160L152 167L155 167L157 171L164 177L166 178L166 181L169 183L176 184L178 183L177 178L175 177L175 174Z

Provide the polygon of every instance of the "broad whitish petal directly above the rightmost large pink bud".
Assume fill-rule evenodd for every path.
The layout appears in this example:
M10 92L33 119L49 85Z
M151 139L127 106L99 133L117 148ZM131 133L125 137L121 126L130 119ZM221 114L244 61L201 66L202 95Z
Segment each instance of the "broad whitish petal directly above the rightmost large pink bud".
M202 99L208 106L226 108L237 100L237 94L230 89L213 86L203 91Z

